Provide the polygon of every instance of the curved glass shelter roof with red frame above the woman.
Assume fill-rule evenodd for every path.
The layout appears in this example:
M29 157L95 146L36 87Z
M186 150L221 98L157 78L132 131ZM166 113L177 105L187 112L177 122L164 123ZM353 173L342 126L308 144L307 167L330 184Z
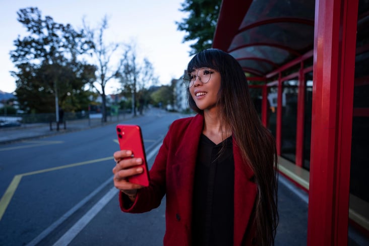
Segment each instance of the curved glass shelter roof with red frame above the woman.
M315 0L223 0L213 47L266 76L314 48Z

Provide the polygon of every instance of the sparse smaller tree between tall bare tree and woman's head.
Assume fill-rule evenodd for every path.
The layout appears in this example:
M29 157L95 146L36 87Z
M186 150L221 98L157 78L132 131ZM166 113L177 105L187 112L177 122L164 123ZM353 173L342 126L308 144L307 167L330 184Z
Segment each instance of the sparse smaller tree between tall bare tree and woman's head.
M143 63L137 61L136 48L127 45L126 51L121 59L121 71L119 71L120 83L126 92L132 95L132 108L134 116L137 115L136 108L139 102L139 110L142 114L143 106L148 101L147 89L158 82L154 68L148 58Z

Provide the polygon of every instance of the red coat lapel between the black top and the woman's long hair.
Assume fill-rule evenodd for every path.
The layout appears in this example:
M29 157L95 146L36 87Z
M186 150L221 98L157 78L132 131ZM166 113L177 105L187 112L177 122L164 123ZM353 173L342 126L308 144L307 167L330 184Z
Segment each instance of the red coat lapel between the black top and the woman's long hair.
M234 237L233 244L241 245L248 228L257 193L256 183L250 179L254 172L242 160L239 148L233 138L234 155Z

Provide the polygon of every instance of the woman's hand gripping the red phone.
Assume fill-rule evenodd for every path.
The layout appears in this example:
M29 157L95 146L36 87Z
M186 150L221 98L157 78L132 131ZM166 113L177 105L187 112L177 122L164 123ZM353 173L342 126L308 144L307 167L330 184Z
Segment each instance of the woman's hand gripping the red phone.
M113 156L116 162L116 165L113 168L114 186L121 192L125 193L131 201L135 201L137 190L143 188L143 186L136 183L130 183L128 178L143 172L143 168L138 167L138 165L142 164L142 159L131 158L131 150L116 151Z

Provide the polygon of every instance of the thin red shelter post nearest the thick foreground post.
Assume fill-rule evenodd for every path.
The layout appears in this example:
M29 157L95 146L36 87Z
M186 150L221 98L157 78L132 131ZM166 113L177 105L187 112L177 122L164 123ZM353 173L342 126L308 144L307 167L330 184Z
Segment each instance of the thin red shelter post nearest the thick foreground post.
M296 165L303 163L303 133L305 120L305 90L306 82L303 74L303 63L298 73L298 94L297 94L297 126L296 126Z

